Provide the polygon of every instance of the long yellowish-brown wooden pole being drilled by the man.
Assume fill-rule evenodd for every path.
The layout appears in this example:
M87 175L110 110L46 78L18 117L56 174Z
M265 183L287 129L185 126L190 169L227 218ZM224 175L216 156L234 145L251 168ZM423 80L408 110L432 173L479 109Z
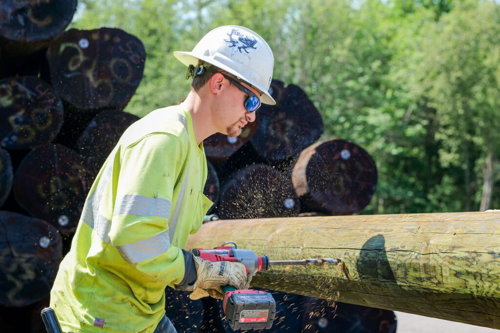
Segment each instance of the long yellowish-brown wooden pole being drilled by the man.
M500 329L500 212L292 217L205 223L188 249L224 241L275 266L252 286Z

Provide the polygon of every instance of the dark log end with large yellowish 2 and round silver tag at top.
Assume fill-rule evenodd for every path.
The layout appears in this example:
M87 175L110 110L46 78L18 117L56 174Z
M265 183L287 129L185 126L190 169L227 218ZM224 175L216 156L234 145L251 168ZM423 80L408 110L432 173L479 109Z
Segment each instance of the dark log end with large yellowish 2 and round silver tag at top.
M50 44L50 77L78 110L123 109L137 89L146 53L136 37L116 28L69 29Z

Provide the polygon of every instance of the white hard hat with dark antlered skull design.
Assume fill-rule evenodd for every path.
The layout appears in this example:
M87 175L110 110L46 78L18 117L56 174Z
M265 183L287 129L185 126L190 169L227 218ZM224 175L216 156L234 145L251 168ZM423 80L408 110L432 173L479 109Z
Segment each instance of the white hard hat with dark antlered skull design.
M184 65L198 64L198 59L218 67L251 84L263 95L260 101L274 105L269 85L274 56L262 37L238 25L224 25L205 34L191 52L173 52Z

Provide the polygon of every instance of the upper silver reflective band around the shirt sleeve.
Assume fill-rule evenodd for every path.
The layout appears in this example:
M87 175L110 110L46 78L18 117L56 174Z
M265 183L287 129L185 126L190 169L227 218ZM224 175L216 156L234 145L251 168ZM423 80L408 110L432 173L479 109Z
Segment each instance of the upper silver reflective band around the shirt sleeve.
M138 216L157 216L168 219L170 201L161 198L149 198L141 195L124 195L114 207L114 215L133 214Z

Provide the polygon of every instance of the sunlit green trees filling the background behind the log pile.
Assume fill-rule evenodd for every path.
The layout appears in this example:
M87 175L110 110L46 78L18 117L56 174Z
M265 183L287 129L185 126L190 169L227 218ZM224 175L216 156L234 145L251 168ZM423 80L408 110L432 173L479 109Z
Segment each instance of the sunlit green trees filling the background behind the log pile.
M373 156L378 186L363 213L478 209L485 156L500 156L497 1L80 0L73 27L142 40L144 78L126 111L143 116L189 89L172 52L223 24L266 39L274 77L307 92L324 137Z

